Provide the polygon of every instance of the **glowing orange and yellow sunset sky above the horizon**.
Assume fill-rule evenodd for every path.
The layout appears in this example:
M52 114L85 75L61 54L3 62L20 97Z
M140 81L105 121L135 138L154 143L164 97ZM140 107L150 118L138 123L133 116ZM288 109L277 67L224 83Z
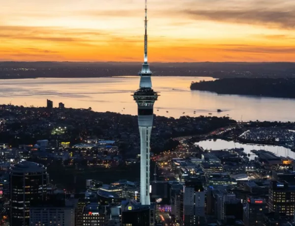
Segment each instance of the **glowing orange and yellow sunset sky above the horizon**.
M0 60L142 61L145 0L0 0ZM149 61L295 61L295 0L148 0Z

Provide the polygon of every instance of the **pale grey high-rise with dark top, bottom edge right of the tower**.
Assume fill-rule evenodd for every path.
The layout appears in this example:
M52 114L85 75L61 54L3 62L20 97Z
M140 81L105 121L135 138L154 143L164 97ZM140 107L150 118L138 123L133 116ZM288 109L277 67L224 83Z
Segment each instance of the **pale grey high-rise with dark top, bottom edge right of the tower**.
M183 186L183 223L198 225L205 217L205 191L202 182L187 181Z

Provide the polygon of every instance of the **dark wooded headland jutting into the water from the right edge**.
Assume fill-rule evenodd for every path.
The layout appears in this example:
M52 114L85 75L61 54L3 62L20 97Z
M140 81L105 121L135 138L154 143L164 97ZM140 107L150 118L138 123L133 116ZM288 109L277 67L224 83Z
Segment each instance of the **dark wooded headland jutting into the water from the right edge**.
M295 79L233 78L192 83L191 90L218 94L295 98Z

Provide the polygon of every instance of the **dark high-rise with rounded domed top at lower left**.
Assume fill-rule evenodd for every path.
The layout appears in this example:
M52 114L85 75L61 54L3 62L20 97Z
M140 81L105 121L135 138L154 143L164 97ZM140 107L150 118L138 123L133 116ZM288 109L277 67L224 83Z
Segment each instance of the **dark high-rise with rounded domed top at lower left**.
M22 161L10 169L10 226L29 226L32 201L47 196L46 167Z

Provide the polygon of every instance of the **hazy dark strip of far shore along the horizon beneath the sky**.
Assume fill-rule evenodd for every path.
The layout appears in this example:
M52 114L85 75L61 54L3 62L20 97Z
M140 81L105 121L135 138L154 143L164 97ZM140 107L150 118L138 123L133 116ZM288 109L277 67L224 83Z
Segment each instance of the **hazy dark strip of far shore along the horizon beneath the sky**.
M0 79L98 78L135 76L141 62L0 62ZM171 62L150 63L154 76L222 78L295 78L294 62Z

